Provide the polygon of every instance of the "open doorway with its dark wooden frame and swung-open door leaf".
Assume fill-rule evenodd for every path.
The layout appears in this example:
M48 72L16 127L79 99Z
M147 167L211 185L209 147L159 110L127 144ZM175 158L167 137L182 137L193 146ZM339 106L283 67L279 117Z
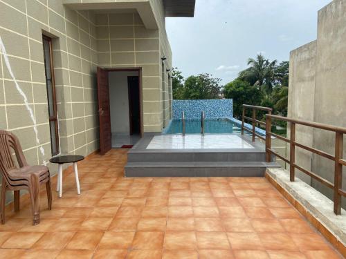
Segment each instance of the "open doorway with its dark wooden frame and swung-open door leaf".
M107 77L98 81L100 153L104 154L111 148L133 146L143 136L141 69L100 68L98 73ZM107 103L104 99L108 99L108 113L102 107ZM109 126L102 126L104 122Z

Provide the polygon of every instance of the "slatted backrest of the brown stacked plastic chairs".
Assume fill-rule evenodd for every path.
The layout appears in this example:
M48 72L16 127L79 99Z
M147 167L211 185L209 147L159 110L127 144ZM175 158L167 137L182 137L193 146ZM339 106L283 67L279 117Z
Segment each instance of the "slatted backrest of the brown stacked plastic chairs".
M18 138L13 133L0 130L0 169L6 180L8 180L8 171L17 168L12 157L13 151L15 151L19 167L27 166L28 163Z

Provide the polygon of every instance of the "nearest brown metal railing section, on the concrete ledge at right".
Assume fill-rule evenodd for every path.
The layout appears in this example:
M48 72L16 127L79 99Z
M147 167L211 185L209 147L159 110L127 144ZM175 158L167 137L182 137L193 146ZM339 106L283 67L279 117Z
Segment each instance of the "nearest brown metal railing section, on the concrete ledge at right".
M275 133L271 132L271 125L272 125L272 119L281 120L284 122L289 122L290 124L290 138L282 137L280 135L277 135ZM312 148L310 146L305 146L304 144L300 144L296 142L295 140L295 125L300 124L304 126L309 126L312 128L319 128L325 131L331 131L335 133L335 153L334 155L331 155L329 153L326 153L324 151L320 151L316 148ZM343 135L346 134L346 128L337 127L337 126L331 126L327 124L321 124L317 122L307 122L300 119L292 119L288 117L282 117L277 115L266 115L266 162L271 162L271 155L275 155L279 157L280 159L284 160L284 162L288 163L290 165L289 169L289 179L291 182L294 182L295 180L295 169L298 169L299 171L302 171L302 173L305 173L309 175L311 178L317 180L321 184L329 187L330 189L334 190L334 213L336 215L340 215L341 213L341 196L346 197L346 191L342 188L342 180L343 180L343 166L346 166L346 160L343 159ZM283 140L284 142L289 143L290 146L290 155L289 158L283 157L282 155L277 154L272 148L271 148L271 137L277 137L280 140ZM328 180L325 180L324 178L321 178L320 175L317 175L316 173L313 173L307 169L302 168L298 164L295 164L295 147L298 146L299 148L302 148L304 150L310 151L314 154L320 155L322 157L325 157L329 160L334 161L334 183L329 182Z

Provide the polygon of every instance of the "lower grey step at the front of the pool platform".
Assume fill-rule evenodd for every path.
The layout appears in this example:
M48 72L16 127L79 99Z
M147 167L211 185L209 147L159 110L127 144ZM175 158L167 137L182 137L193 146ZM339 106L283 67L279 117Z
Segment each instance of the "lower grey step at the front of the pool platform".
M272 162L128 162L126 177L263 177Z

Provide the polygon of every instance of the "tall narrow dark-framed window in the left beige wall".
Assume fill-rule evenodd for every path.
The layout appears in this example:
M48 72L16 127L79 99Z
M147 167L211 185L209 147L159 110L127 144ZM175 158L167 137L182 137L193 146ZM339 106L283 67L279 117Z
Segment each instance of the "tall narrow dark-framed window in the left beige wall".
M52 155L59 153L59 134L57 131L57 102L55 98L55 81L53 70L52 39L43 36L44 68L48 97L49 127L51 128Z

